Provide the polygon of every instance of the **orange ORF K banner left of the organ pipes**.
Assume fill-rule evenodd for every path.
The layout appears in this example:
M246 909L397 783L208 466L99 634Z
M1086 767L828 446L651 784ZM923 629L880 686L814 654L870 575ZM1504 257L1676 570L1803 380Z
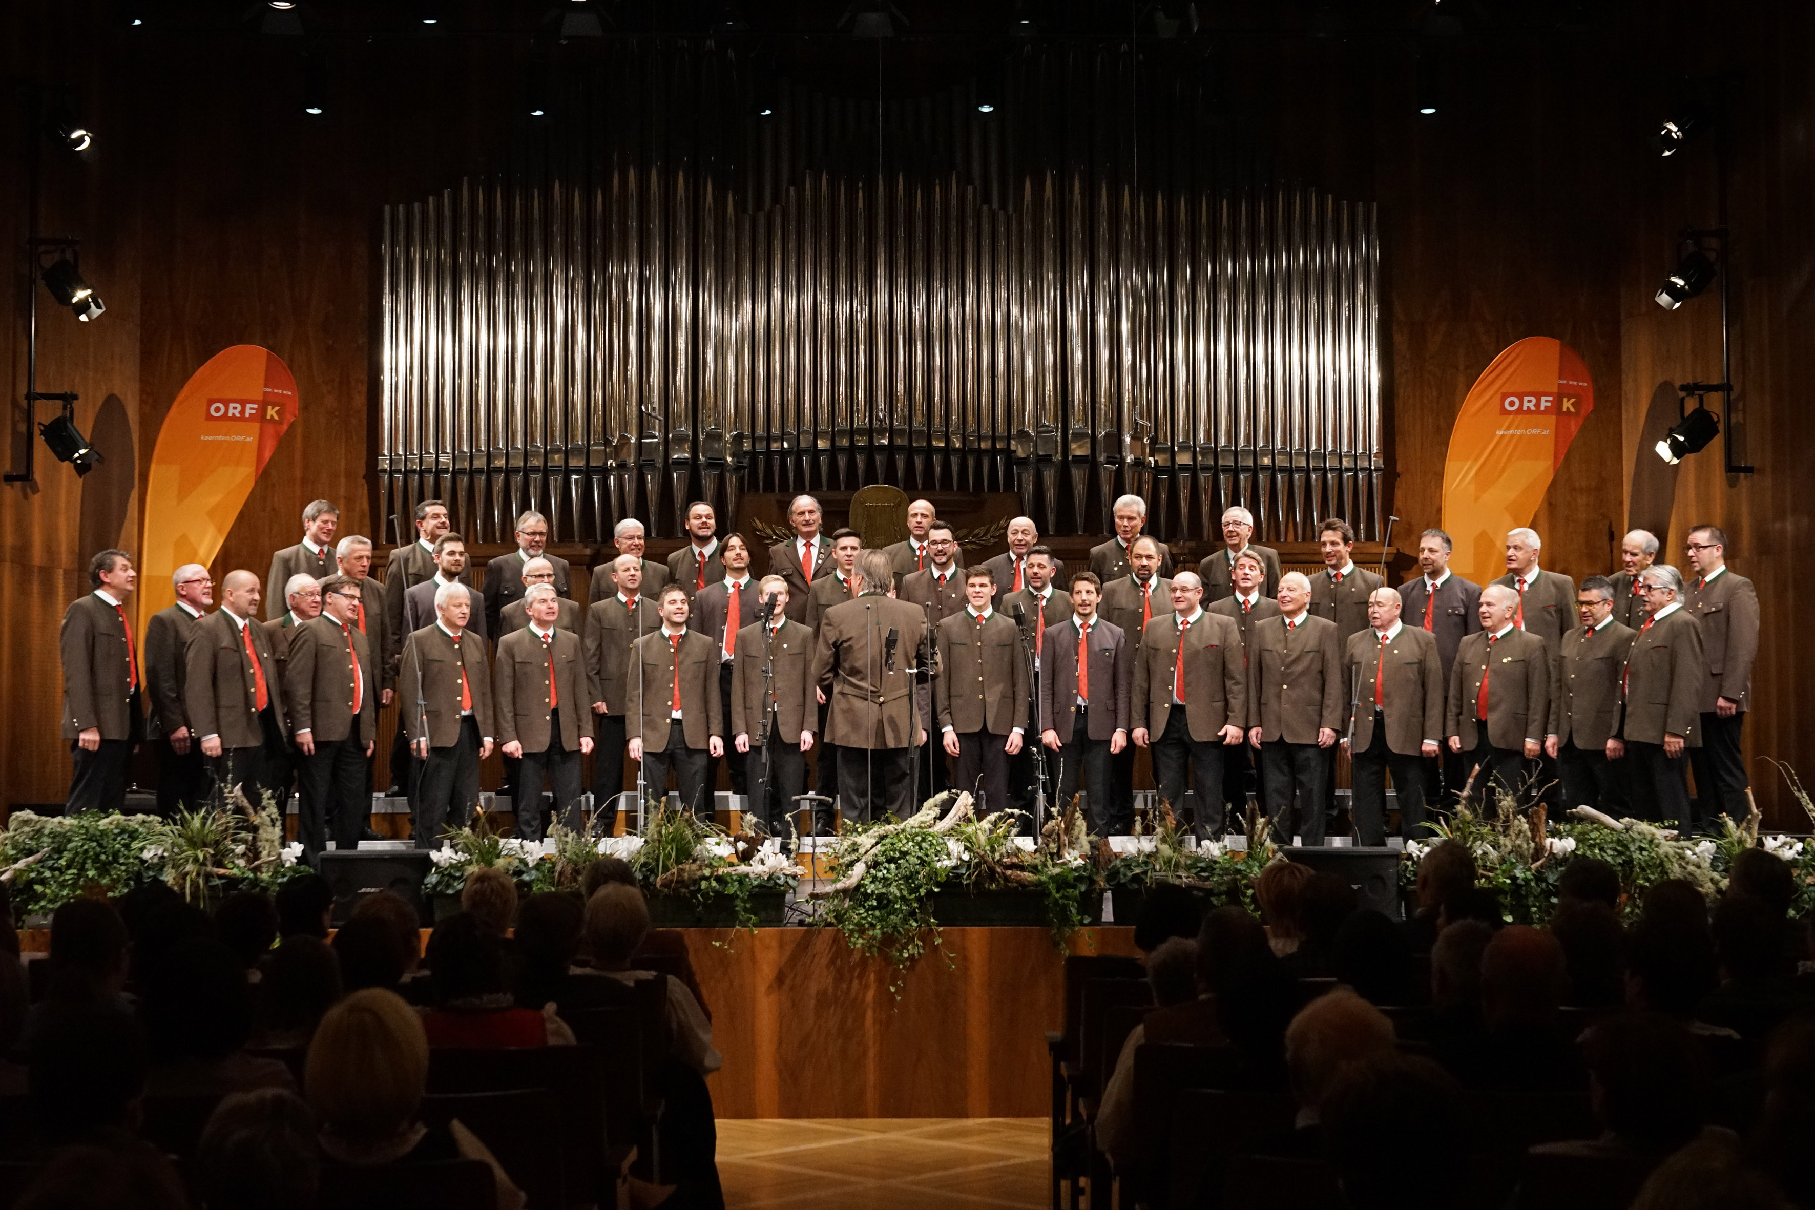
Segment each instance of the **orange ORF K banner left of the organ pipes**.
M171 575L220 553L245 497L296 421L296 379L278 354L234 345L171 405L151 454L138 555L140 631L176 600ZM269 591L269 588L267 588ZM216 602L220 597L216 597Z

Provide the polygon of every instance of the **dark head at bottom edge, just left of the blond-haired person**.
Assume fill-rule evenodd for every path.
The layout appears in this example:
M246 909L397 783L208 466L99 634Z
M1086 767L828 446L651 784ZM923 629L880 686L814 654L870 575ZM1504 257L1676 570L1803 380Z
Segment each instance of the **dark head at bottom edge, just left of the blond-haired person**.
M192 1172L207 1210L310 1210L321 1186L316 1117L289 1088L236 1092L209 1116Z

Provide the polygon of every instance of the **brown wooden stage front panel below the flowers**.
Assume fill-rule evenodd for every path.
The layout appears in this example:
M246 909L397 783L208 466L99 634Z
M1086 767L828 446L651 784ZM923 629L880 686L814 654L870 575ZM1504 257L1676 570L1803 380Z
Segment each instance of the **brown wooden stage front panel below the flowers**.
M1045 929L946 929L900 1000L835 929L686 929L724 1069L719 1117L1038 1117L1064 958ZM1129 927L1074 952L1133 954Z

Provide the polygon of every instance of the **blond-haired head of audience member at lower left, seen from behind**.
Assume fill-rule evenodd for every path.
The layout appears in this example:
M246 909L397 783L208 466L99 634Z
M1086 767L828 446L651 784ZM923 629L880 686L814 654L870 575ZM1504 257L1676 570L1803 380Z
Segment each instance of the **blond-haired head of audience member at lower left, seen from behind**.
M396 992L347 996L309 1043L303 1088L321 1130L336 1137L376 1143L403 1134L416 1125L427 1083L428 1034Z

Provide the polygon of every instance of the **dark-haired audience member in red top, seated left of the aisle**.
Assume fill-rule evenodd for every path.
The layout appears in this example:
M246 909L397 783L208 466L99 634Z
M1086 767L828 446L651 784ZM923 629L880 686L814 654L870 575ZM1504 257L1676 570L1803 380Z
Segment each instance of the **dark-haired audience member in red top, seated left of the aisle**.
M436 1007L423 1018L436 1047L548 1047L572 1045L574 1034L555 1014L519 1009L510 992L505 940L457 912L428 936L428 972Z

